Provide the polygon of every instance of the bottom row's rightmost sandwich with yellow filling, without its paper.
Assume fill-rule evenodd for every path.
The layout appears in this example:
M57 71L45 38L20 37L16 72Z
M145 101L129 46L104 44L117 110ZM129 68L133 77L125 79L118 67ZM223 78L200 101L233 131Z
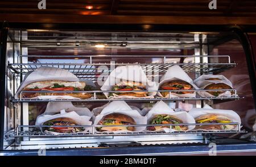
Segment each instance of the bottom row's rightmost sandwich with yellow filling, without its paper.
M232 130L236 127L236 125L203 125L204 123L232 123L230 118L221 114L204 114L195 120L196 123L202 123L202 125L197 125L195 129Z

